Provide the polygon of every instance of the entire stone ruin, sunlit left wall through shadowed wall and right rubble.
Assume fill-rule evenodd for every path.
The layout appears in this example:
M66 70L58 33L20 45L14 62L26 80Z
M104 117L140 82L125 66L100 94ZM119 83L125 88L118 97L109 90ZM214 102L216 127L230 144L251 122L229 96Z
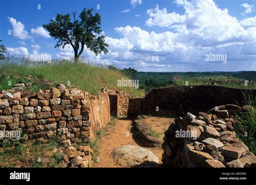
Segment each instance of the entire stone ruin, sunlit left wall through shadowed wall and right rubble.
M245 110L240 89L218 86L186 86L153 89L145 98L133 98L122 90L102 89L98 96L65 87L31 93L23 91L28 84L0 94L0 131L18 130L23 140L45 142L56 137L60 143L54 154L62 153L59 167L89 167L93 150L89 143L96 131L110 122L110 115L184 115L165 132L163 163L167 167L255 167L250 153L234 132L234 113ZM255 90L252 90L255 96ZM205 103L207 102L207 103ZM217 111L215 105L218 106ZM158 106L159 110L156 110ZM212 108L210 111L210 108ZM140 129L138 127L138 129ZM143 130L143 125L141 129ZM176 131L197 131L193 138L176 137ZM147 134L144 134L145 136ZM145 140L145 138L144 138ZM150 139L146 137L146 141ZM151 142L152 143L152 142ZM159 142L153 141L154 144ZM73 144L78 144L74 147Z

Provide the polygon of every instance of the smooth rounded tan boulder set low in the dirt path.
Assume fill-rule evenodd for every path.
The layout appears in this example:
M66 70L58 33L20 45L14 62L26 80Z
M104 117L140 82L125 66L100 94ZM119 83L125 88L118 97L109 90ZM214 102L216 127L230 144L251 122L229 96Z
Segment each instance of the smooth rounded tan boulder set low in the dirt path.
M132 167L145 161L158 162L158 158L151 151L145 148L124 145L112 151L113 160L122 167Z

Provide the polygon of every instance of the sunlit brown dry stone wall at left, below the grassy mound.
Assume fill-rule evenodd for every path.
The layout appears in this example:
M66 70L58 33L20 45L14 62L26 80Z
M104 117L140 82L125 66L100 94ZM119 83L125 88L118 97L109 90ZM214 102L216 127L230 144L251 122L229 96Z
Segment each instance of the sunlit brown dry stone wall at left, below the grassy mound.
M64 145L88 143L110 122L107 94L57 88L0 94L0 130L20 131L24 139L57 137Z

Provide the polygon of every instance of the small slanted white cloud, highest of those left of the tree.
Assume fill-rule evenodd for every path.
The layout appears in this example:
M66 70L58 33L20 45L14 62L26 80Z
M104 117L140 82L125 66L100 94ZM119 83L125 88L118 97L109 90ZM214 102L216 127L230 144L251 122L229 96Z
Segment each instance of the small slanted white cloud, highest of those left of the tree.
M9 22L12 25L12 32L11 34L14 37L17 37L19 39L31 39L32 36L29 35L29 33L25 30L25 26L24 24L22 24L21 22L17 22L17 20L15 18L12 17L8 17Z

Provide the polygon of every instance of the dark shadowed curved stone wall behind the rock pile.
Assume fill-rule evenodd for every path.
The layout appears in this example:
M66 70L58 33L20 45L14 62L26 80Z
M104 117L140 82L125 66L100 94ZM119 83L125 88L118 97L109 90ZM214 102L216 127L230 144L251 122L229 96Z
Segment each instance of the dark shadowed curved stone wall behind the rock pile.
M154 116L184 115L186 112L207 111L223 104L243 105L243 93L246 92L248 90L221 86L156 88L145 98L131 98L128 115L129 117L136 117L140 113ZM255 98L256 90L251 90L251 94Z

